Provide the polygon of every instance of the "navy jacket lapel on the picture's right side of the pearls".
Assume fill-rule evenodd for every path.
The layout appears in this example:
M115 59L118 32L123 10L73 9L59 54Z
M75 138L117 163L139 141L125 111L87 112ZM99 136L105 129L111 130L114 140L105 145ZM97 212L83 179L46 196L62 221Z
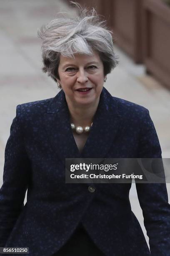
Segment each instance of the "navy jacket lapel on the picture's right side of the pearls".
M83 158L107 158L107 153L118 131L117 102L103 87L92 129L82 151Z

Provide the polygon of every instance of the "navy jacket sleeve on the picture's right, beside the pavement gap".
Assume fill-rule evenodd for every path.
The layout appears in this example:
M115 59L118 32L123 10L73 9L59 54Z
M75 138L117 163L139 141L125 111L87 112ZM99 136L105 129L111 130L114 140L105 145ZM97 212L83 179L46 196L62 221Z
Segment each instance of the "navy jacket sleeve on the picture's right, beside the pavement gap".
M141 125L139 158L161 158L161 148L149 111L145 109ZM153 256L170 255L170 205L165 183L136 183L144 225Z

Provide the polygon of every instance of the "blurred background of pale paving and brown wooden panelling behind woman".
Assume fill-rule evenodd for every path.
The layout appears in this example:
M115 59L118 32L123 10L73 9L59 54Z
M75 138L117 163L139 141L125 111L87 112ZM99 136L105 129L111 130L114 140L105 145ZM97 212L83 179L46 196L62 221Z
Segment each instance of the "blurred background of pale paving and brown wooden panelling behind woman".
M107 76L106 89L115 97L149 109L163 158L170 158L170 1L77 2L94 7L113 31L120 64ZM58 93L57 84L41 71L37 28L60 11L76 15L76 8L67 0L0 0L0 187L4 150L16 106ZM167 189L170 199L170 184ZM135 184L130 190L130 202L148 242Z

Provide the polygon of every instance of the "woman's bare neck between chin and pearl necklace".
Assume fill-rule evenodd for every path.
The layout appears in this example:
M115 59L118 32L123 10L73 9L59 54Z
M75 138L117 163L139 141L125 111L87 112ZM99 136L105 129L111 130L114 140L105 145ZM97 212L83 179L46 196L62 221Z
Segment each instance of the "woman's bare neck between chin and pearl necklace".
M67 100L67 99L66 99ZM70 112L70 122L74 123L75 126L91 126L94 115L96 113L100 98L97 99L95 104L77 106L72 105L69 101L67 102L68 109Z

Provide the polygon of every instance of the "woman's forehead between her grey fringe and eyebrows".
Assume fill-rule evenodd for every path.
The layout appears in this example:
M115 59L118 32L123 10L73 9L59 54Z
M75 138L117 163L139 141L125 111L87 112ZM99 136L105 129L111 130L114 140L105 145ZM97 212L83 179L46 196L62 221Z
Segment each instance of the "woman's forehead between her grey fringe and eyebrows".
M100 56L97 52L93 52L92 56L86 55L86 54L74 54L75 58L72 57L66 57L63 55L60 55L60 66L65 66L67 64L75 64L75 65L85 65L90 62L97 62L98 64L101 64Z

